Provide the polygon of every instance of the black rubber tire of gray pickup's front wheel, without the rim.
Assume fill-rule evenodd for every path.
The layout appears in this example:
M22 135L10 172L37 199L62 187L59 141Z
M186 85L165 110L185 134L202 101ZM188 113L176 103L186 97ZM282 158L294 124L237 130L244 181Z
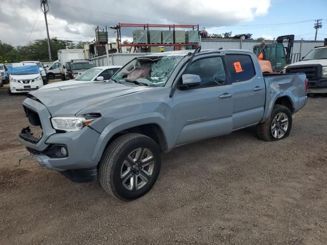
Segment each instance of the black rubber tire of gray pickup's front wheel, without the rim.
M153 156L153 171L146 184L138 190L129 190L121 180L124 161L131 152L138 148L146 148ZM99 180L103 189L112 197L123 201L132 201L142 197L154 185L161 167L161 153L157 143L148 136L136 133L124 134L107 146L100 160ZM140 174L141 174L141 170ZM131 172L131 174L133 174ZM134 174L133 174L134 175ZM138 176L138 174L137 174ZM127 178L126 178L127 179ZM136 177L136 180L138 177Z

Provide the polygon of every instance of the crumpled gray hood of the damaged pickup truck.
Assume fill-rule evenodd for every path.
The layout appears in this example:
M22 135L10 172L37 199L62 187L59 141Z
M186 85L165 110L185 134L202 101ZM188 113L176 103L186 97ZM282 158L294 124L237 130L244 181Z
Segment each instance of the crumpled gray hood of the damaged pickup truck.
M65 86L30 92L43 105L48 107L52 116L76 115L82 109L92 107L97 113L97 104L102 104L115 97L149 89L142 86L126 86L118 83L87 83L79 86ZM101 112L100 112L101 113Z

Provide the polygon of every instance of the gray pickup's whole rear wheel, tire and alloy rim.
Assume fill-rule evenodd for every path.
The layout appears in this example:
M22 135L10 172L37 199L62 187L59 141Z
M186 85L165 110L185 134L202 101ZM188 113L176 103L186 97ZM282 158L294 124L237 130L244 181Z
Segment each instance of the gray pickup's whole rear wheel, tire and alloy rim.
M275 105L270 119L256 126L258 137L265 141L281 140L289 136L292 129L292 114L283 105Z

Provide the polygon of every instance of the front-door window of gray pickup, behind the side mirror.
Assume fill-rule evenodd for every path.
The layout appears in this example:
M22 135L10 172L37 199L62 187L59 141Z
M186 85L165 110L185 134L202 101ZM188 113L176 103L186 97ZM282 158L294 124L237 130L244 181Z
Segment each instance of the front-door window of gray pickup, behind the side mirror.
M194 61L184 74L194 74L201 78L201 83L192 88L226 85L226 74L221 57L209 57Z

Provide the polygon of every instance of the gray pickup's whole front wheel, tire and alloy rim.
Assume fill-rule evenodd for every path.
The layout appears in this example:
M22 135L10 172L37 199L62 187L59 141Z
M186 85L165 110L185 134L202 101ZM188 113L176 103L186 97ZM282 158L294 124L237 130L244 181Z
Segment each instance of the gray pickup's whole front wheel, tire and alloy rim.
M148 136L129 133L116 138L105 150L99 166L103 189L113 197L131 201L154 185L161 167L161 153Z

